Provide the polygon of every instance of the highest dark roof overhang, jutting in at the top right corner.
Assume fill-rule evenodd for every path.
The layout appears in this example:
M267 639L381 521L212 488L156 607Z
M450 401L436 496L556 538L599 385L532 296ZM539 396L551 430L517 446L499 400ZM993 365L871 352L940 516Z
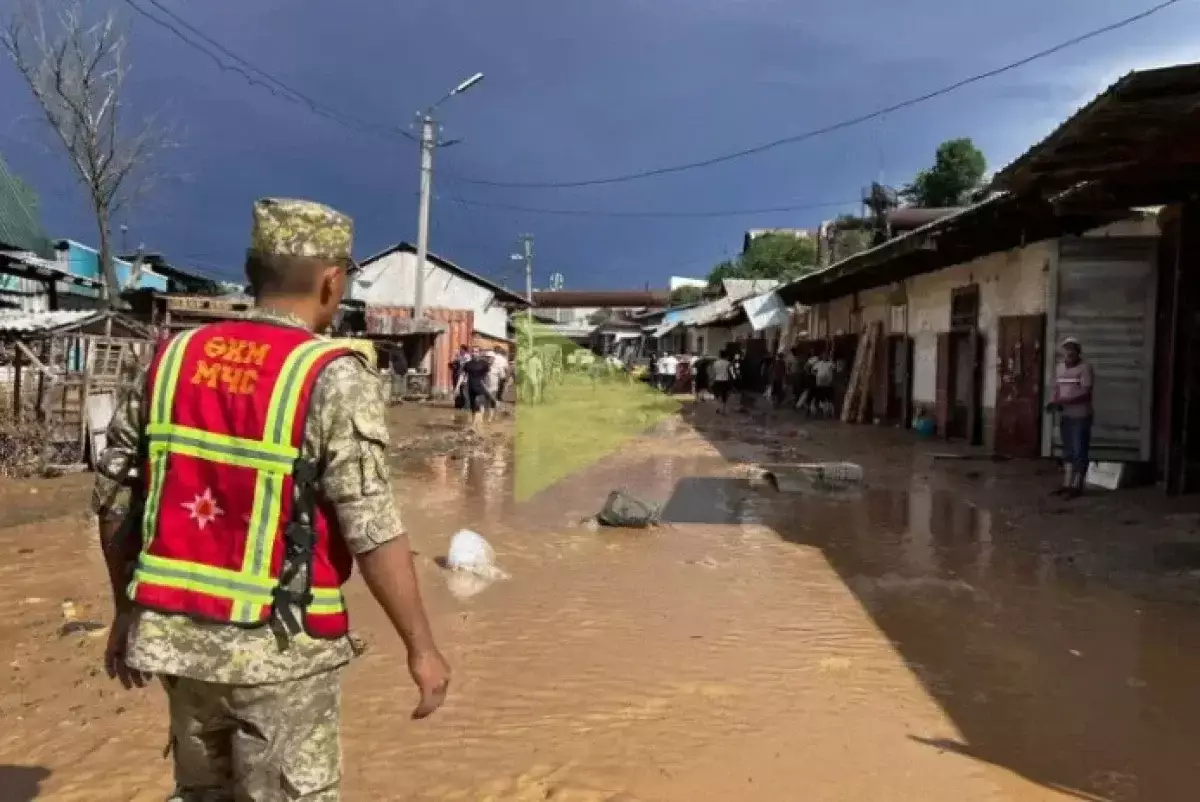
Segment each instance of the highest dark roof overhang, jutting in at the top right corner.
M1050 193L1130 172L1200 167L1200 64L1130 72L992 179Z

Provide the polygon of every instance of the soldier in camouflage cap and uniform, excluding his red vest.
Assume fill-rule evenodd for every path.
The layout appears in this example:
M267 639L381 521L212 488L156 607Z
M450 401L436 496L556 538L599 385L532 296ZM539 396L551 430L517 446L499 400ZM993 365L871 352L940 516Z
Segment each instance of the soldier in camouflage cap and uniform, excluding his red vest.
M350 249L344 215L311 202L259 200L247 255L254 315L325 330L353 269ZM118 406L96 479L116 603L108 674L126 688L162 680L176 783L172 801L332 802L341 776L340 674L358 652L349 636L282 636L274 627L202 622L130 602L126 588L142 549L133 520L139 510L136 502L122 510L120 497L142 459L145 403L143 372ZM337 528L408 647L420 692L413 716L424 718L440 706L450 672L430 632L389 486L384 411L373 366L335 359L314 384L301 456L319 466L317 486L336 511Z

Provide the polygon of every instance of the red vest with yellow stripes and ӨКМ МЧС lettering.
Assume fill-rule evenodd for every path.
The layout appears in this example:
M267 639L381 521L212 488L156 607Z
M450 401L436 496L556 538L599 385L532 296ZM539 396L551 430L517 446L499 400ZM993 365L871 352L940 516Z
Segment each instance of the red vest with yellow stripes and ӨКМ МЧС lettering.
M317 638L349 629L342 585L353 562L337 519L300 459L313 384L355 351L295 327L235 321L181 334L148 376L138 605ZM288 576L284 555L288 555ZM296 567L308 588L289 594Z

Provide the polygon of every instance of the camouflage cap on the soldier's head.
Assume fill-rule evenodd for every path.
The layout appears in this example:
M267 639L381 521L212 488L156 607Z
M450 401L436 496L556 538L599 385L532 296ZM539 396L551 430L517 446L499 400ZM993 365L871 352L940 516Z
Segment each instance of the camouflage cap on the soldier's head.
M336 209L292 198L254 202L251 251L343 261L350 258L353 247L354 222Z

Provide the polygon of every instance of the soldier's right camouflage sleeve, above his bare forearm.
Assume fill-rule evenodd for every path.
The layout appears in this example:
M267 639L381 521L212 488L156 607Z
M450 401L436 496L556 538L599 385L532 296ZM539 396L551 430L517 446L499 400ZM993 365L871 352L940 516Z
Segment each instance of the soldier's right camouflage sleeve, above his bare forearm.
M358 358L334 360L317 379L310 408L306 441L322 455L322 492L350 551L366 553L402 535L378 373Z

